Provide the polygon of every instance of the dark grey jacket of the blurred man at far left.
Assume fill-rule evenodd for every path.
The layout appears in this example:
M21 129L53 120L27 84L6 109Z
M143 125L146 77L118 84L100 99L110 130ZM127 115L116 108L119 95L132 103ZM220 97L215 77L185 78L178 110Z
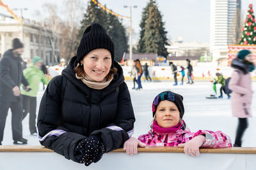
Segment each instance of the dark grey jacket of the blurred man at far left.
M15 57L13 50L7 50L0 62L0 101L17 102L20 96L14 96L13 87L20 87L20 83L24 86L28 85L28 81L22 73L21 57Z

